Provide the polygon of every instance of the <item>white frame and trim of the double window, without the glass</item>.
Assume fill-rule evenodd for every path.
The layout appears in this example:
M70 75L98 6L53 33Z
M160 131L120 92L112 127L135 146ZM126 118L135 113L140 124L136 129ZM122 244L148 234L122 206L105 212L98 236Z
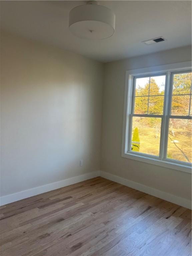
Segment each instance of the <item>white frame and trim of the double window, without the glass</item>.
M191 163L185 163L173 159L167 159L165 158L165 144L167 145L167 134L162 134L162 131L168 130L169 125L169 113L171 109L171 97L172 97L172 84L173 84L173 72L182 72L190 70L192 66L191 61L188 62L180 62L180 63L173 63L173 64L167 64L162 66L154 66L154 67L148 67L148 68L142 68L142 69L135 69L135 70L127 70L126 71L126 78L125 78L125 98L124 98L124 114L123 114L123 134L122 134L122 157L159 165L162 167L188 172L191 173ZM163 115L142 115L143 117L163 117L164 122L162 121L161 126L161 140L160 140L160 152L162 153L162 157L147 155L139 152L134 151L128 151L128 148L130 148L130 145L128 143L131 143L131 125L130 125L130 115L132 104L133 104L133 90L134 90L134 84L133 80L134 77L139 76L152 76L152 75L161 75L166 74L166 81L165 81L165 96L164 96L164 112ZM170 86L171 85L171 86ZM166 101L166 99L169 99ZM182 118L182 119L189 119L189 116L172 116L172 118ZM162 129L163 128L163 129Z

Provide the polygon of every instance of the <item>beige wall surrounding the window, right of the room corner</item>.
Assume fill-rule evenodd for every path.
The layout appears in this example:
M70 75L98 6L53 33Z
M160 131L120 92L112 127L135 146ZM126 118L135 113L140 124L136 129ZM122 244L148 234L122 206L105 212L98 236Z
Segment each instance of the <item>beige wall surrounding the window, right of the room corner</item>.
M105 64L102 171L190 199L191 174L121 157L125 71L190 60L191 47L182 47Z

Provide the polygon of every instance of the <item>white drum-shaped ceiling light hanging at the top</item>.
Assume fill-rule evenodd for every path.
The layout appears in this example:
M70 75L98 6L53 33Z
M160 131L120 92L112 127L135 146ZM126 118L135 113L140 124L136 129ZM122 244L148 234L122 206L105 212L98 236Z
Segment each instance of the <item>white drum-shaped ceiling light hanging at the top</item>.
M88 1L73 8L69 13L69 29L84 39L104 39L115 32L115 14L107 7Z

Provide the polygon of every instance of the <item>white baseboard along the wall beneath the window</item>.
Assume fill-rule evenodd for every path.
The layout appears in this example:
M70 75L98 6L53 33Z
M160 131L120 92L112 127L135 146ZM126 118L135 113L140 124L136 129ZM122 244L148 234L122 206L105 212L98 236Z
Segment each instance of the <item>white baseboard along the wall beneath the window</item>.
M110 173L107 173L107 172L102 172L101 171L100 176L103 177L103 178L106 178L108 180L112 180L114 182L125 185L127 187L134 188L136 190L142 191L142 192L147 193L149 195L156 196L156 197L161 198L163 200L166 200L168 202L178 204L180 206L191 209L191 201L187 200L185 198L175 196L175 195L163 192L161 190L151 188L151 187L142 185L140 183L137 183L137 182L134 182L134 181L131 181L131 180L121 178L119 176L116 176L116 175L113 175L113 174L110 174Z

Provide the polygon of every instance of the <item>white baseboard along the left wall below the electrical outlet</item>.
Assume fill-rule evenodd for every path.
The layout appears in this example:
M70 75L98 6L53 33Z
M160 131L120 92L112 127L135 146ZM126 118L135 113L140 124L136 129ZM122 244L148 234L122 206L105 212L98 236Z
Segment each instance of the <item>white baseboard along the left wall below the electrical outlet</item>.
M57 181L57 182L53 182L50 184L46 184L40 187L35 187L35 188L31 188L31 189L27 189L27 190L23 190L14 194L10 194L7 196L2 196L0 197L0 205L5 205L5 204L9 204L12 202L16 202L18 200L21 199L25 199L31 196L36 196L54 189L58 189L58 188L62 188L62 187L66 187L84 180L89 180L95 177L100 176L100 171L95 171L95 172L89 172L89 173L85 173L73 178L69 178L69 179L65 179L65 180L61 180L61 181Z

